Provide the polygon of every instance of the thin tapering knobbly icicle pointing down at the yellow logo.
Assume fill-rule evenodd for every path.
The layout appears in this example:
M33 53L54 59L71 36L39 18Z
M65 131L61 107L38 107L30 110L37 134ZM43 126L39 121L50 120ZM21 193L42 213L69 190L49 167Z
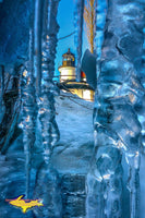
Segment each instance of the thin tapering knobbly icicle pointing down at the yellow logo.
M32 152L35 143L35 125L36 125L36 93L34 78L34 32L29 28L29 60L26 63L26 69L21 76L21 95L23 104L23 144L25 152L25 171L26 171L26 197L29 195L31 186L31 166Z

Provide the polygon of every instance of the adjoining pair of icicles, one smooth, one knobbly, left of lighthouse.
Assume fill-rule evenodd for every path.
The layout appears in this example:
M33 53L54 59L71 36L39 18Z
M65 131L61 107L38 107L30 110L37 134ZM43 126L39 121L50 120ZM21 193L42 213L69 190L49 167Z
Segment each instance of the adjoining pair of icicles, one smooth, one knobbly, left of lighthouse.
M56 21L58 2L58 0L46 0L41 4L37 0L35 7L35 74L37 76L36 86L39 97L38 116L41 123L44 149L45 153L49 150L49 154L59 140L59 129L55 120L55 95L58 90L52 81L58 41L57 33L59 31ZM43 13L44 15L40 15ZM37 51L41 53L37 53ZM44 120L44 116L46 120Z

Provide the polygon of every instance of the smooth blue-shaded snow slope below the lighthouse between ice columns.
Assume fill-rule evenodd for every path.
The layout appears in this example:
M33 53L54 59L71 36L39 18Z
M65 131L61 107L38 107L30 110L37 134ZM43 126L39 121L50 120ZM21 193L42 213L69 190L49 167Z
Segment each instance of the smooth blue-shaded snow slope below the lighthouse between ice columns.
M72 94L56 98L60 142L52 160L58 170L86 173L94 145L93 107Z

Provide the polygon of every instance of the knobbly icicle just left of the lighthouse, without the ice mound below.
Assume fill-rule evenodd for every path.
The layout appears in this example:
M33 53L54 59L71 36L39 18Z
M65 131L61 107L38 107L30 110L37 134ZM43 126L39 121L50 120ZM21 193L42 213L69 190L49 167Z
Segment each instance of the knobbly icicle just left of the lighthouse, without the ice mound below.
M55 120L56 109L55 109L55 94L57 93L57 87L55 86L53 71L55 71L55 58L56 58L56 47L57 47L57 33L59 26L53 20L53 15L57 14L59 1L49 1L48 4L48 22L47 22L47 33L44 34L43 41L43 81L41 81L41 98L39 107L39 119L41 122L43 132L43 144L46 155L51 154L51 149L55 146L56 137L53 138L53 131L57 133L59 140L59 130ZM56 14L55 14L56 13ZM46 120L44 119L46 118ZM58 141L57 140L57 141ZM48 157L49 162L49 157Z

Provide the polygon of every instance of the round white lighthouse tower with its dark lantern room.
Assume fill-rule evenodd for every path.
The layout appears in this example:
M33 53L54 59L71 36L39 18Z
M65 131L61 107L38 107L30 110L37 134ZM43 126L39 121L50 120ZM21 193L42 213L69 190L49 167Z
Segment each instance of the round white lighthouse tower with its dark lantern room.
M74 55L70 51L62 56L62 65L59 66L60 82L75 81L75 59Z

